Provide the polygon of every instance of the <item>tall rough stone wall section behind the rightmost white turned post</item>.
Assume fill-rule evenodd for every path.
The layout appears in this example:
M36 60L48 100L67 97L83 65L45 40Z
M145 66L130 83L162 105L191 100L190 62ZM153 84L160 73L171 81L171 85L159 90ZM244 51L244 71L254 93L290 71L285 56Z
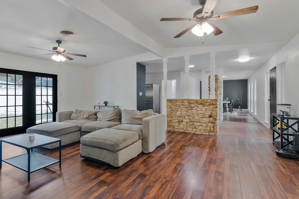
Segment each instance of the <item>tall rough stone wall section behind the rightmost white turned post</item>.
M215 98L217 99L217 105L218 105L218 118L217 118L217 124L220 127L221 122L222 122L222 118L223 118L223 82L222 80L219 78L218 75L215 75ZM210 75L209 75L209 97L210 97Z

